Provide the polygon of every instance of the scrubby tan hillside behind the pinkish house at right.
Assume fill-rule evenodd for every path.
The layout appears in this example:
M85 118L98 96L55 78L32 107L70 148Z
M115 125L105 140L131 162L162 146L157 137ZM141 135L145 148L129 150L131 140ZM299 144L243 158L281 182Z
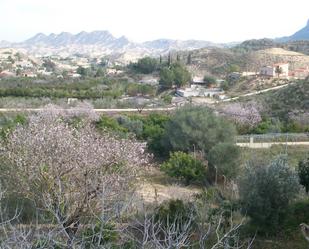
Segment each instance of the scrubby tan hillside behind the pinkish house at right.
M232 71L259 72L264 65L289 62L290 69L309 65L309 55L286 50L280 47L269 47L260 50L239 50L238 48L205 48L180 53L183 62L191 56L191 71L194 74L211 73L222 76Z

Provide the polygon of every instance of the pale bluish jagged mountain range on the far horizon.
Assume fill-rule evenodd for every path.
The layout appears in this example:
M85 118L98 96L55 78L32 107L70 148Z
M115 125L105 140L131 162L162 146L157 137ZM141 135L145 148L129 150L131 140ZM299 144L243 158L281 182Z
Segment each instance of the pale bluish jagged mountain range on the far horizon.
M224 44L208 41L171 39L158 39L137 43L130 41L125 36L116 38L108 31L83 31L75 35L68 32L52 33L50 35L38 33L21 43L0 42L0 47L26 48L29 52L41 55L61 53L115 55L126 53L127 55L124 55L124 57L128 57L128 59L144 55L156 56L172 50L193 50L204 47L224 46ZM230 46L230 44L226 46Z

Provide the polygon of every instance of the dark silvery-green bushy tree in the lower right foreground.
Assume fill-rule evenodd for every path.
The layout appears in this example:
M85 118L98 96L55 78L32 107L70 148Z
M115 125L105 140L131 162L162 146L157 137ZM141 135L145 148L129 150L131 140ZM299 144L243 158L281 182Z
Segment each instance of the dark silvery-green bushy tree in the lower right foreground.
M240 181L243 211L265 233L274 232L282 224L298 191L298 177L283 156L268 165L249 163Z

